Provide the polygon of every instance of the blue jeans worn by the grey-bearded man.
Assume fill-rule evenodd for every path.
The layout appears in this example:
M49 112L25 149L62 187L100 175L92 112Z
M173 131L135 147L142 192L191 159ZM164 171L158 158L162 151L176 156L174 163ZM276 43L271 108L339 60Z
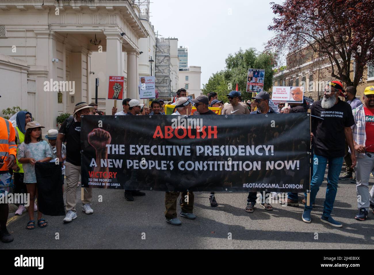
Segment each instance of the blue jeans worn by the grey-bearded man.
M335 196L338 189L338 180L341 166L343 165L343 159L344 157L325 158L324 156L314 155L313 177L310 182L310 206L305 204L305 210L312 211L313 209L312 205L315 203L319 187L321 186L322 181L324 181L326 165L328 162L327 189L322 215L325 217L331 216L332 207L334 207ZM307 194L304 193L304 195L306 198Z

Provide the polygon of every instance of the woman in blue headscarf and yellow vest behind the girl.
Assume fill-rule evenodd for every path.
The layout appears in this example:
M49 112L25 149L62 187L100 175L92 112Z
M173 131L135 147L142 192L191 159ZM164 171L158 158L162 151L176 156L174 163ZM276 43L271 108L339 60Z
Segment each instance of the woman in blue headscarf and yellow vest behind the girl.
M25 139L25 132L26 132L26 124L33 120L33 116L28 111L19 111L16 114L16 143L17 143L17 153L18 153L18 147L21 145L22 142L24 142ZM14 173L14 193L17 194L24 194L27 193L26 191L26 185L23 182L24 178L24 171L22 169L22 164L18 162L12 167L13 173ZM34 205L30 205L29 207L34 207ZM26 211L24 204L19 204L18 209L15 213L15 215L22 215Z

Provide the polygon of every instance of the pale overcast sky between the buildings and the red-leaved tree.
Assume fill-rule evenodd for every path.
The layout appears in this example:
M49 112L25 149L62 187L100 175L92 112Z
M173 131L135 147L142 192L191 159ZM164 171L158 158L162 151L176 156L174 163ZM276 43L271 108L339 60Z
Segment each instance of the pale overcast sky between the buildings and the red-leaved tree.
M151 0L150 21L163 37L188 46L188 65L201 66L201 88L239 48L264 49L277 0ZM230 12L232 13L230 15Z

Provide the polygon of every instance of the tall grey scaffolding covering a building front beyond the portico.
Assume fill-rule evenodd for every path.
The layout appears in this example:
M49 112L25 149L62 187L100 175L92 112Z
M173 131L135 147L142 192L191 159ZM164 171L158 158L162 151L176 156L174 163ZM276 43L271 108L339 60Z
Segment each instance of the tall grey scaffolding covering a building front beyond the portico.
M156 89L160 99L171 97L170 91L170 40L163 37L157 38L155 74Z

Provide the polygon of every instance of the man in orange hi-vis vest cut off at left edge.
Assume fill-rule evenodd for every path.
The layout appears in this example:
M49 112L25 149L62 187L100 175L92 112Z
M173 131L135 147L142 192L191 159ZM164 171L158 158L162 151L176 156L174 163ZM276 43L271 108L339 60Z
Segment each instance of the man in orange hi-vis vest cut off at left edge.
M0 96L1 97L1 96ZM7 196L9 192L10 178L9 169L15 164L17 145L15 143L16 133L12 123L0 117L0 196ZM0 203L0 240L2 242L13 241L13 236L6 229L9 206Z

